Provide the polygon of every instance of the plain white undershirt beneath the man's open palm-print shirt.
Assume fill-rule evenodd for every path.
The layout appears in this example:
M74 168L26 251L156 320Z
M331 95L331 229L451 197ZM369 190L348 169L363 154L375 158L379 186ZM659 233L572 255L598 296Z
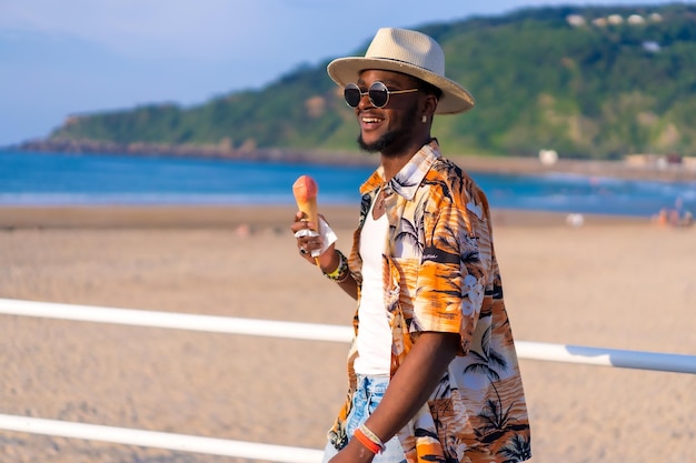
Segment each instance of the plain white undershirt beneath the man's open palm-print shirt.
M355 361L358 374L389 375L391 365L391 329L385 309L381 263L388 230L387 214L375 220L370 210L360 232L362 290L358 306L358 358Z

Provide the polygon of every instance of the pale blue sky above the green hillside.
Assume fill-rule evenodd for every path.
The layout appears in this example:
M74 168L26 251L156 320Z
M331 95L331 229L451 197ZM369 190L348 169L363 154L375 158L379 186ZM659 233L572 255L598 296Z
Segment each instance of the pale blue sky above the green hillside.
M259 89L350 56L381 27L594 0L0 0L0 147L44 138L66 117ZM328 79L328 77L327 77Z

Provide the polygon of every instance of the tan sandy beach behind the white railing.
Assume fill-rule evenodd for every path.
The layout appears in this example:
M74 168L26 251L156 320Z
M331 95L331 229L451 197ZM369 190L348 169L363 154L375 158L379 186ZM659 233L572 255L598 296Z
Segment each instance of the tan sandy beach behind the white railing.
M354 208L322 210L347 251ZM349 324L294 208L1 208L0 298ZM494 211L519 341L696 354L696 228ZM347 345L0 315L0 413L320 449ZM682 463L696 375L521 360L535 463ZM230 457L0 431L0 462Z

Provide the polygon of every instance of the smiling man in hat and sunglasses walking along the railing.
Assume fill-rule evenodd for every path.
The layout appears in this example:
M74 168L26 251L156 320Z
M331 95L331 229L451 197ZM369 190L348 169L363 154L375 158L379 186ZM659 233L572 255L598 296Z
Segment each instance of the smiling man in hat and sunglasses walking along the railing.
M349 256L322 218L298 212L291 225L300 255L357 301L348 397L325 462L528 460L488 201L430 135L435 114L465 112L473 97L445 77L440 46L410 30L380 29L365 57L327 70L380 165L360 188Z

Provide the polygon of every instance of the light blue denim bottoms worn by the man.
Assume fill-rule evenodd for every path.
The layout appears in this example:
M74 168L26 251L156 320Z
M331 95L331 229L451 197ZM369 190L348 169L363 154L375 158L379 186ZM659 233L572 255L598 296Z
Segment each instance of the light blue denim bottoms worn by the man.
M348 414L346 431L348 433L348 439L352 437L352 433L355 432L360 424L362 424L367 417L377 409L381 397L385 396L385 391L387 391L387 385L389 385L389 378L387 376L365 376L358 375L358 389L356 390L355 395L352 396L352 409ZM329 442L324 451L324 461L322 463L328 462L334 455L336 455L338 451L334 447L334 445ZM374 463L402 463L406 462L406 456L404 455L404 449L401 447L401 443L399 442L397 436L391 437L386 443L386 449L384 452L378 453L372 459Z

